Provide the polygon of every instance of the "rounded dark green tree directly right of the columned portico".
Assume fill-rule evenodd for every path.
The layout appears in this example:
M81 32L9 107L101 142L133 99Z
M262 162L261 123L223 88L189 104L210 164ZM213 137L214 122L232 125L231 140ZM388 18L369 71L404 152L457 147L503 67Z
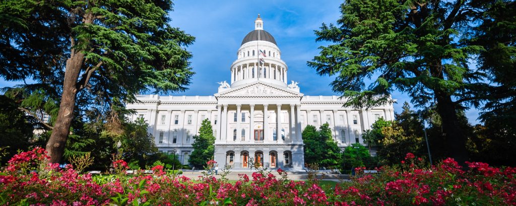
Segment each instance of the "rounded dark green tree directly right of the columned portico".
M304 142L305 163L318 163L320 166L337 166L341 160L341 149L333 140L328 123L322 124L317 130L315 126L307 125L302 132Z

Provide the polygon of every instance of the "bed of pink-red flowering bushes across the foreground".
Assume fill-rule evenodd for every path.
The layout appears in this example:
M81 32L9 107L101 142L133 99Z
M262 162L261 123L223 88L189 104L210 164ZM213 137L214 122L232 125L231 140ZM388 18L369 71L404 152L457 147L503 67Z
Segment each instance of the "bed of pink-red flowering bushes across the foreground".
M515 205L515 168L493 168L467 163L460 169L446 159L429 169L407 155L401 167L379 168L380 175L361 176L351 182L325 187L317 180L295 182L286 172L260 170L240 180L201 176L190 180L166 175L79 175L71 166L40 165L47 158L36 148L15 155L0 173L2 205ZM126 166L118 161L122 171ZM357 168L361 173L362 168ZM34 170L41 172L36 173ZM44 171L44 172L43 172ZM275 173L276 173L275 172Z

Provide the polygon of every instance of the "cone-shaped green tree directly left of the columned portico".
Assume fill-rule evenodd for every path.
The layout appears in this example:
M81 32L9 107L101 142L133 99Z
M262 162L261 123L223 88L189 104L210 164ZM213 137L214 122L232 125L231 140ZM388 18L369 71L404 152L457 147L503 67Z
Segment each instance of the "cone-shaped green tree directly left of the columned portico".
M193 151L188 163L196 168L203 168L206 162L213 159L215 153L215 137L212 123L208 119L202 120L199 135L193 136Z

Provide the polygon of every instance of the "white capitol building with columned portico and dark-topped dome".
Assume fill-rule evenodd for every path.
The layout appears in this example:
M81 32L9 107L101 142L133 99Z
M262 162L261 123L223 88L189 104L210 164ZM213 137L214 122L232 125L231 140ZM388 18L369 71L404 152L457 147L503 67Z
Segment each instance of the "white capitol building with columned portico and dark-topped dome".
M274 37L258 15L229 68L231 82L219 82L213 96L138 95L128 104L136 118L149 123L159 151L175 153L188 164L193 136L202 120L212 122L215 161L233 170L249 168L252 158L263 167L303 170L301 131L308 124L328 122L342 149L360 142L362 132L378 119L394 119L392 102L378 107L343 107L337 96L304 96L297 82L288 81L286 63ZM296 72L296 71L292 71Z

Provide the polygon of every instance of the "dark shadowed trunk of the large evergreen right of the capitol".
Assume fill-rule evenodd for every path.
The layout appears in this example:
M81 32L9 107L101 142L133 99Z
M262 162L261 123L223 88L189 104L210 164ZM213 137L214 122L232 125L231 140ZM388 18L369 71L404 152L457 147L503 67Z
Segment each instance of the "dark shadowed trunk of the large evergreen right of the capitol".
M447 155L453 157L460 165L465 166L468 161L466 150L466 135L457 118L455 103L451 97L441 92L436 92L437 112L442 119L443 136Z

